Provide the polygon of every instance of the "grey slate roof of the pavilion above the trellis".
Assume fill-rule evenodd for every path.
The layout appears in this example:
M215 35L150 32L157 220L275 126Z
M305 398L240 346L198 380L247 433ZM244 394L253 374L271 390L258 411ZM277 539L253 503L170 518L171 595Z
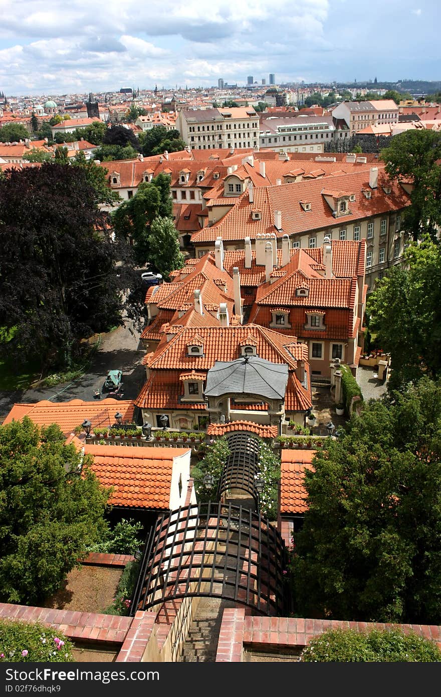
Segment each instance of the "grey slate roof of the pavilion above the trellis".
M256 355L228 362L216 361L207 374L206 397L236 393L284 399L288 365L272 363Z

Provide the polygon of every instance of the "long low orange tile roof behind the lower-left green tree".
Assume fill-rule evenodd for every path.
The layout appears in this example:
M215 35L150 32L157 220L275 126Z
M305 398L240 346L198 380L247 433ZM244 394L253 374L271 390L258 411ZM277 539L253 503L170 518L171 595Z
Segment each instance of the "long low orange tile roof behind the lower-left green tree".
M123 422L132 422L134 402L119 399L97 399L96 401L83 401L72 399L71 401L57 402L42 400L33 404L14 404L3 423L8 424L12 420L20 421L24 416L38 426L58 424L64 434L73 431L86 419L92 426L111 426L115 423L115 413L123 414Z

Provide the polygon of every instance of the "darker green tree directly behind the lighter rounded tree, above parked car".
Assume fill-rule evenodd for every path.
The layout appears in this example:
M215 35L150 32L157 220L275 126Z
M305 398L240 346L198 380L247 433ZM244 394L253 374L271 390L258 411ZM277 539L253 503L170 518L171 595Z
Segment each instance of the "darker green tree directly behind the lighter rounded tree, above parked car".
M139 185L137 193L124 201L113 213L112 222L119 238L133 241L134 257L139 266L149 259L150 227L156 217L171 217L173 202L170 178L159 174L151 182Z

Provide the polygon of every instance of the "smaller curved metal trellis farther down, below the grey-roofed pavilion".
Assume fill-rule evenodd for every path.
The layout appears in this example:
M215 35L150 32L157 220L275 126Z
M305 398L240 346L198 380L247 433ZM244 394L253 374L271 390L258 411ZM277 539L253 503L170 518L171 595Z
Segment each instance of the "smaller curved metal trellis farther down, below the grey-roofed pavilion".
M226 491L240 489L258 503L256 475L258 474L258 440L244 431L227 436L230 454L219 481L219 498Z

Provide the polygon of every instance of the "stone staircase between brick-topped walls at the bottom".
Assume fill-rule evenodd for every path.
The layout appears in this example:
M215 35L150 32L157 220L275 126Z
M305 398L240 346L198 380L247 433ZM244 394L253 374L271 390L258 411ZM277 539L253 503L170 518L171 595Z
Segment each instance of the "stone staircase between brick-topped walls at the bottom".
M219 598L201 598L196 615L192 620L180 655L180 663L204 661L214 663L217 642L224 608L233 608L235 603Z

